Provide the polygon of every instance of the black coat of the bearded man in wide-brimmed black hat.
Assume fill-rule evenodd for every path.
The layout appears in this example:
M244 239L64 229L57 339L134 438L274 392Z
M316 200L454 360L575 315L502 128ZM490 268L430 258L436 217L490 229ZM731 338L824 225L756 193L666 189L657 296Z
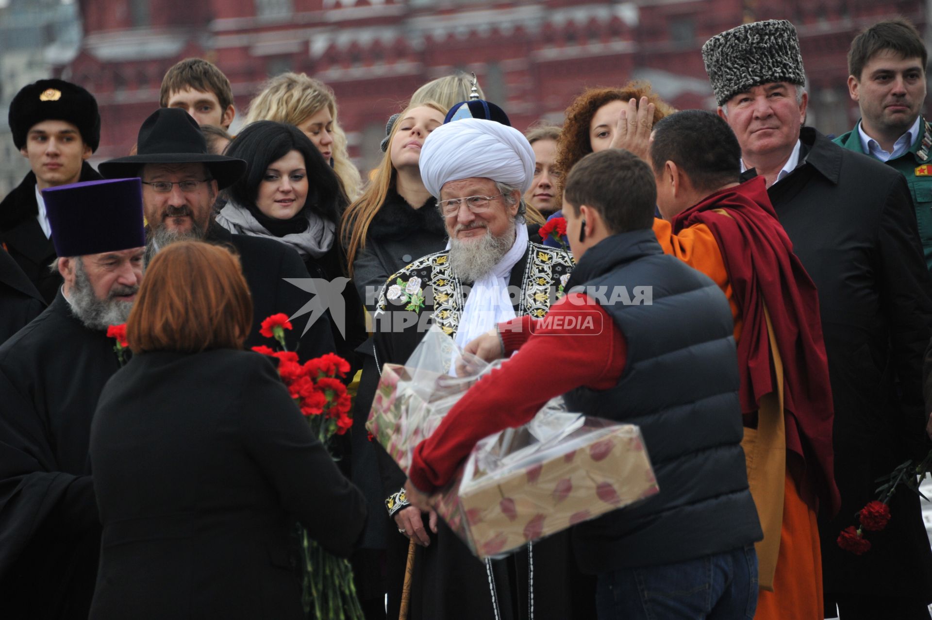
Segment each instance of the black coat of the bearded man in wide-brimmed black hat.
M313 298L285 278L309 278L301 256L284 243L234 235L226 228L212 224L205 241L232 245L240 255L242 273L253 295L253 331L246 338L246 349L255 345L277 346L271 338L259 334L262 322L270 315L283 312L292 316ZM294 328L285 331L289 351L296 351L302 360L332 353L336 347L330 331L329 313L322 315L302 336L309 315L295 318Z

